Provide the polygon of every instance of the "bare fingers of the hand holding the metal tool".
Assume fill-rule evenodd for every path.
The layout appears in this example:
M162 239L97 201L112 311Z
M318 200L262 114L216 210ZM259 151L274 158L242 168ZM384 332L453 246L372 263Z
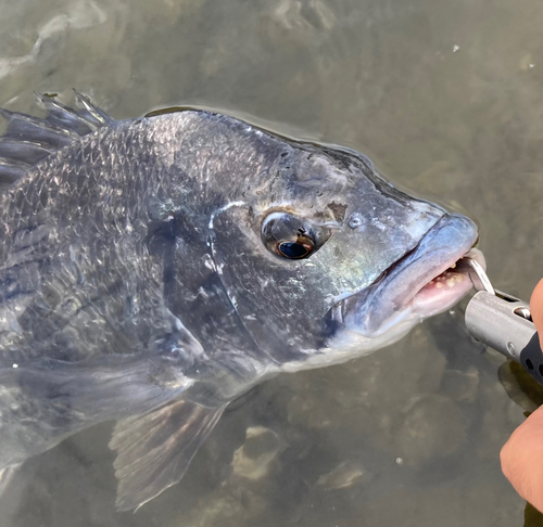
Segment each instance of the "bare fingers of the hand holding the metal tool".
M530 310L543 349L543 280L533 290ZM513 433L500 458L502 471L517 492L543 512L543 407Z

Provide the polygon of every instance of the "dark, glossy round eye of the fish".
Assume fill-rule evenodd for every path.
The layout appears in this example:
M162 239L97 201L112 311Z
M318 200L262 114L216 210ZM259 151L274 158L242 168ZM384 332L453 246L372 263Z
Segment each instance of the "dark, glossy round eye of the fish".
M266 218L262 239L270 253L290 260L307 258L318 248L312 226L286 213L274 213Z

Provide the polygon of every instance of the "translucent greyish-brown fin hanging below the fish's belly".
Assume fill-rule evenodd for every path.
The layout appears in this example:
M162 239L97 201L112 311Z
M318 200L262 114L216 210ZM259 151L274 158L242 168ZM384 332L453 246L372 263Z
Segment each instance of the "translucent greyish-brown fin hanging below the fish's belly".
M225 407L173 401L118 421L110 442L117 451L117 509L136 510L178 483Z

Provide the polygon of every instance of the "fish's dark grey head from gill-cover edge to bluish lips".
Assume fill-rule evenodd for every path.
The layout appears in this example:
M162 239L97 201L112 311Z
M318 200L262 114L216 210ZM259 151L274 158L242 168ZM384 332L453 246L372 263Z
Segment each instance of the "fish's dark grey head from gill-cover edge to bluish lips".
M258 133L266 153L223 179L209 228L233 309L282 370L382 348L471 288L453 269L477 241L470 219L401 192L359 153Z

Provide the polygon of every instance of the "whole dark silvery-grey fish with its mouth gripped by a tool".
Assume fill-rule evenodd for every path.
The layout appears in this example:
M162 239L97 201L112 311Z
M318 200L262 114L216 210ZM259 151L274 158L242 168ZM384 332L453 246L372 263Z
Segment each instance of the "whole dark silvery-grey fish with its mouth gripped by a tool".
M0 487L114 421L116 507L178 483L225 408L388 346L471 288L476 223L363 154L217 112L1 110Z

